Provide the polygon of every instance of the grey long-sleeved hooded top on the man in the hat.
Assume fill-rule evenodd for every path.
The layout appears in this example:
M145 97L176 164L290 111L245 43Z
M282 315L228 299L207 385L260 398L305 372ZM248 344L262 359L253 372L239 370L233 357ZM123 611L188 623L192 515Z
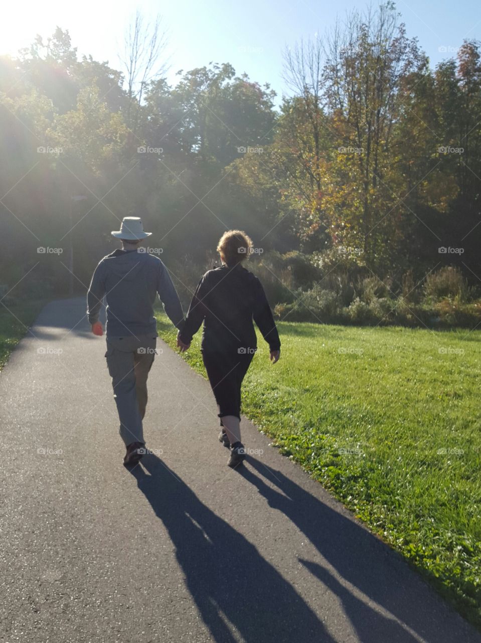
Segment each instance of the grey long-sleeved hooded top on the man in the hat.
M157 293L173 325L181 328L184 312L167 268L158 257L137 250L116 250L95 269L87 293L89 322L98 321L103 296L107 296L110 337L157 332L153 304Z

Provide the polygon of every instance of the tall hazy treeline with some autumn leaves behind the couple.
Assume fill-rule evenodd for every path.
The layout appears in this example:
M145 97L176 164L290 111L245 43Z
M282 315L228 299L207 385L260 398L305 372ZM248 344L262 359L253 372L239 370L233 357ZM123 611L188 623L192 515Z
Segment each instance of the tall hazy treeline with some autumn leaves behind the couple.
M2 57L0 284L83 291L110 230L139 215L186 298L235 227L286 314L302 293L349 307L372 278L384 298L419 297L447 265L461 286L440 297L474 300L479 43L432 69L388 3L284 51L284 78L279 110L267 83L228 63L135 93L106 62L79 60L60 28Z

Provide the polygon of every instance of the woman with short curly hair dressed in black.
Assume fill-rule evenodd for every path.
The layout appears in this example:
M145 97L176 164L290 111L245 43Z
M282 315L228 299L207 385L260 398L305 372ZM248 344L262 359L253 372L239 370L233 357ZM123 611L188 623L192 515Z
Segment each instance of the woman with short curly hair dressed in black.
M240 434L241 385L257 350L256 322L275 364L281 342L264 289L242 262L252 252L252 240L241 230L225 232L217 246L222 266L209 270L193 294L186 323L177 336L187 350L202 321L202 358L219 409L220 442L231 449L227 463L236 467L245 458Z

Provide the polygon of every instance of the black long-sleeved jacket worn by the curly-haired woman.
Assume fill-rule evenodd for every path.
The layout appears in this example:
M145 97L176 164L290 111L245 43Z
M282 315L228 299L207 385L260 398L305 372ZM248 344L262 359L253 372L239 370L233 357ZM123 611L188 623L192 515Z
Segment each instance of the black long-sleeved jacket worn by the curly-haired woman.
M281 347L272 311L258 278L241 264L209 270L193 294L180 339L190 343L202 321L202 350L255 349L256 322L270 350Z

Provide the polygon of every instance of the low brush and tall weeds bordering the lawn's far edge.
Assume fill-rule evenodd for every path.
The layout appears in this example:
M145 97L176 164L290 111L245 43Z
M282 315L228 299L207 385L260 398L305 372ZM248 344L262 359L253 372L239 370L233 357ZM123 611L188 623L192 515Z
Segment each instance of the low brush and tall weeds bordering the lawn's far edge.
M434 271L424 284L423 280L415 283L412 271L408 271L395 286L390 276L362 276L346 269L345 264L331 266L331 253L326 254L326 276L304 289L295 289L289 282L292 289L285 291L289 296L282 301L277 299L274 307L277 320L424 328L474 328L481 323L481 302L475 299L475 289L467 286L457 268ZM322 275L322 253L310 260L322 266Z

